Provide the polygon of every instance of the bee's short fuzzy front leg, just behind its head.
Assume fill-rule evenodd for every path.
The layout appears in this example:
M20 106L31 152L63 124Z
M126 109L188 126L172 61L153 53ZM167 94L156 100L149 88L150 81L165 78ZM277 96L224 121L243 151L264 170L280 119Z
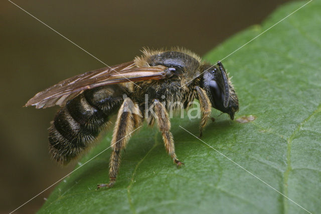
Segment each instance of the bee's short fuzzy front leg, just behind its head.
M206 92L204 91L203 88L200 88L199 86L196 86L195 89L198 95L198 99L200 101L201 112L202 112L202 119L200 124L200 136L199 136L199 138L201 138L203 134L203 129L207 125L208 119L211 119L212 122L214 122L215 119L211 117L212 105L209 97L206 95Z

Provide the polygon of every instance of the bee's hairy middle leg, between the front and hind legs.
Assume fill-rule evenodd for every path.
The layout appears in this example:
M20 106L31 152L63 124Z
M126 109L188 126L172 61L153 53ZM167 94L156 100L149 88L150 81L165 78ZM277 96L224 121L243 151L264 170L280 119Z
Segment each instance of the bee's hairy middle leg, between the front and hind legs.
M171 158L173 159L177 167L180 167L184 165L184 163L179 161L175 154L173 135L170 132L171 122L170 122L169 115L165 109L165 106L161 102L159 102L157 99L154 100L153 105L154 105L154 111L156 114L155 115L156 117L154 118L155 118L155 121L157 122L159 131L162 132L166 151L169 153L169 155L171 156Z

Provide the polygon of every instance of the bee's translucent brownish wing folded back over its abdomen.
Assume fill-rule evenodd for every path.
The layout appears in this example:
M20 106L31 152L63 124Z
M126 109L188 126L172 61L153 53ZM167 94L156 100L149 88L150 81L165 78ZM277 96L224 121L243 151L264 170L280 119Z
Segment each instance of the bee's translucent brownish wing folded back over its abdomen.
M69 79L37 93L28 100L25 106L35 105L37 109L64 105L84 90L123 82L143 81L148 79L164 79L165 66L136 67L133 61L112 67L100 68Z

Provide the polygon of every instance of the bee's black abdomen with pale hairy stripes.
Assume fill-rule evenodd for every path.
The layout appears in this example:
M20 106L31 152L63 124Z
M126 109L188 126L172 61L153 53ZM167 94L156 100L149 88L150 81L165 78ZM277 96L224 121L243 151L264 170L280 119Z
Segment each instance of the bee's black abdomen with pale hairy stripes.
M49 128L52 158L66 165L82 154L118 110L125 89L118 85L86 90L69 100Z

